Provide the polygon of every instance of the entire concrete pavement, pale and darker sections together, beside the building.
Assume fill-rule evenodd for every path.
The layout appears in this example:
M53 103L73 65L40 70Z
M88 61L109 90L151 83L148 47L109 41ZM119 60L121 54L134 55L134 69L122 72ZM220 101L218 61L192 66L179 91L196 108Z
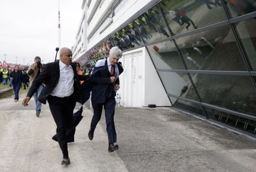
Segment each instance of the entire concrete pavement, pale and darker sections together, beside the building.
M93 141L92 112L84 109L83 116L69 144L71 163L61 166L48 105L37 118L33 99L28 107L0 99L1 171L256 171L255 141L168 108L116 108L113 153L104 115Z

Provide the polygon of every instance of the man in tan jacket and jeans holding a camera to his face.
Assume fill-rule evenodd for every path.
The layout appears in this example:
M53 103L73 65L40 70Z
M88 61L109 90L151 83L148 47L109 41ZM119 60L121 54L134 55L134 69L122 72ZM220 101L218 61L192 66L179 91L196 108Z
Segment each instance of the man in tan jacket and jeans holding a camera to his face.
M33 84L33 81L35 81L37 76L39 76L42 68L43 68L43 64L41 63L41 58L39 56L36 56L34 59L34 63L30 65L27 72L30 78L30 86ZM35 99L35 104L36 104L36 117L39 117L41 112L41 102L38 101L38 97L43 88L44 88L44 84L41 84L36 90L36 92L33 94L33 97Z

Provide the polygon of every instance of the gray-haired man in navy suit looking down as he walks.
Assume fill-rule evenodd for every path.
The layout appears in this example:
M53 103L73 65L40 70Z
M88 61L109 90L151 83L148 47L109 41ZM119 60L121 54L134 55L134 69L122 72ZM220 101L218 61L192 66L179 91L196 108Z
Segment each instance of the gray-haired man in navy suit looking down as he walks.
M118 149L116 143L116 128L114 126L114 109L116 107L116 91L119 89L119 75L124 71L121 62L122 51L119 47L112 47L108 59L98 60L91 75L93 117L88 133L92 141L96 125L100 121L104 106L106 118L106 130L108 133L108 152Z

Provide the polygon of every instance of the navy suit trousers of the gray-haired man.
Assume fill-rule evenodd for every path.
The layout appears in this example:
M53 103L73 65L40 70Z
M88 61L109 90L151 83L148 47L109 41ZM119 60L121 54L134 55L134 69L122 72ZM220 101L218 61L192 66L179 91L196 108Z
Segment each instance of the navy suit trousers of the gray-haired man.
M109 144L112 144L116 142L116 128L114 127L114 108L116 107L115 99L108 99L104 104L92 103L93 118L91 122L91 129L92 131L94 131L96 128L96 125L100 121L103 105L105 110L106 131L108 133L108 142Z

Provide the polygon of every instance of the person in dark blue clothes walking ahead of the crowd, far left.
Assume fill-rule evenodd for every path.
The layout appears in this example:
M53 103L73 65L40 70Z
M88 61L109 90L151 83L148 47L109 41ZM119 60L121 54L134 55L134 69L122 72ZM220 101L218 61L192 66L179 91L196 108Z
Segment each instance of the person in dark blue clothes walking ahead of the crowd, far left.
M23 74L20 71L19 65L16 65L14 72L10 74L10 81L12 81L12 87L14 89L14 101L17 102L19 100L20 87L23 82Z

